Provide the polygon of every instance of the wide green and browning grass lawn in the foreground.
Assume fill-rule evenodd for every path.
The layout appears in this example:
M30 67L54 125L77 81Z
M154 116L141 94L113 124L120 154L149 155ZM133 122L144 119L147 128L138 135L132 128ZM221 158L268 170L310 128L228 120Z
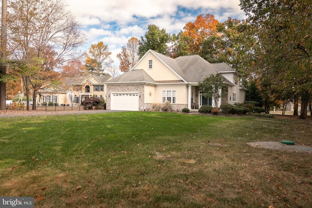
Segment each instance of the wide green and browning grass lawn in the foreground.
M123 112L1 118L0 196L36 208L309 208L310 121Z

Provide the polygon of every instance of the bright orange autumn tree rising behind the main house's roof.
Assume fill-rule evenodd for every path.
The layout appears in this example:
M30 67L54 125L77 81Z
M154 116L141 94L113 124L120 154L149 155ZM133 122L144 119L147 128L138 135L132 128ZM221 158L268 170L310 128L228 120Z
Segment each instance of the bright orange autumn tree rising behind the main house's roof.
M189 48L189 54L199 55L206 38L217 33L218 20L214 15L198 15L194 22L189 22L184 26L184 41Z

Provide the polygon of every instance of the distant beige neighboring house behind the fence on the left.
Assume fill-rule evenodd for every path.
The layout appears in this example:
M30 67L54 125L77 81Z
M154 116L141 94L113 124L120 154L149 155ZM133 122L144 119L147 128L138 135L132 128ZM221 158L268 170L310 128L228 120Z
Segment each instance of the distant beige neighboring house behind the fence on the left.
M111 76L80 76L65 77L62 84L57 87L42 87L39 90L37 102L53 102L70 105L68 94L74 97L74 105L79 105L87 97L104 99L106 93L105 82L112 79Z

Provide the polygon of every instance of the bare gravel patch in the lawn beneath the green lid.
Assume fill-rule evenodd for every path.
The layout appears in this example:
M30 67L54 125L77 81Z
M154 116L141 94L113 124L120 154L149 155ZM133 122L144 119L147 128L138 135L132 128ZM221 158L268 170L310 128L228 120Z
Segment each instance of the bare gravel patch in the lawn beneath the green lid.
M246 143L252 147L264 148L269 150L280 150L280 151L292 151L298 153L310 153L312 154L312 147L305 145L286 145L281 142L248 142Z

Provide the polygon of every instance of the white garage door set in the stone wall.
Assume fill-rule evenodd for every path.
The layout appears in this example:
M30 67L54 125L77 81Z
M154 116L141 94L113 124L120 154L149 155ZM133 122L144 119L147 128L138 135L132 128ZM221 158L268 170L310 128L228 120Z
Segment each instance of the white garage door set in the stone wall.
M111 110L138 111L138 93L112 93Z

